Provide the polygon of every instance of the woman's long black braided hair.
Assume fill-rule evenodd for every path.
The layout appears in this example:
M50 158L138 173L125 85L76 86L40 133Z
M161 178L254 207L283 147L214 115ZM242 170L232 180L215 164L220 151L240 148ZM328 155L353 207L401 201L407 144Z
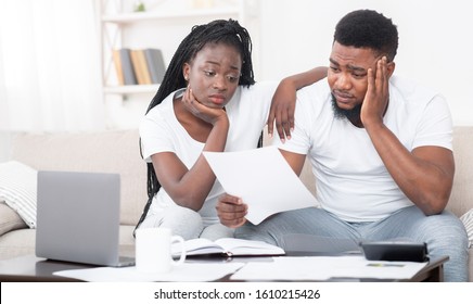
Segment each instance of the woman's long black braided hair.
M247 30L242 27L238 21L216 20L208 24L194 25L191 33L181 41L176 50L166 69L159 89L151 101L146 113L159 104L171 92L186 87L187 84L182 74L184 63L191 63L195 55L208 43L223 43L234 47L242 58L239 86L250 87L255 84L252 63L252 39ZM153 164L148 163L149 203L138 225L144 219L152 198L157 193L159 188L161 185L156 178Z

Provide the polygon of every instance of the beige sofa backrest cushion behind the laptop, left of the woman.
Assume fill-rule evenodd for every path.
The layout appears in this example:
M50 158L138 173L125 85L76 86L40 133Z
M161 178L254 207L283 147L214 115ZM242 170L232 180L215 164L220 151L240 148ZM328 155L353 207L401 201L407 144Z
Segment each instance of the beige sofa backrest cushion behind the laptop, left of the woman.
M13 160L37 170L118 173L120 224L137 224L146 203L146 165L140 156L138 129L15 134L12 147Z

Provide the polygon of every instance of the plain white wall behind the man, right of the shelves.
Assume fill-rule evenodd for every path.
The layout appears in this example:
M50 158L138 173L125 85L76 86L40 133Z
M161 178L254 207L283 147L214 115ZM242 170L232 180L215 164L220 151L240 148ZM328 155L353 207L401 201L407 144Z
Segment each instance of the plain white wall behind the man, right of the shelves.
M258 79L328 65L337 21L357 9L391 17L399 31L396 75L438 89L456 125L473 125L473 17L466 0L260 0Z

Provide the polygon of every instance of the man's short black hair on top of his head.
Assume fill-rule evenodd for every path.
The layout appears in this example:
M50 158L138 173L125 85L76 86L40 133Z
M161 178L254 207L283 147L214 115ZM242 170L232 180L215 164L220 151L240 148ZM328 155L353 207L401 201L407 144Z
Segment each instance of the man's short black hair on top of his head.
M346 47L369 48L393 61L397 53L397 27L391 18L371 10L345 15L335 27L334 41Z

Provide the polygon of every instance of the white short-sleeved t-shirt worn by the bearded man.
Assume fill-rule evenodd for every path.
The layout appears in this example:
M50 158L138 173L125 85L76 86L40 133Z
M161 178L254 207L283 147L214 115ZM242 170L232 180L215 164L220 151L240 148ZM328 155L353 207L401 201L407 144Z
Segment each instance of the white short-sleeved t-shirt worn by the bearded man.
M452 122L438 93L392 77L384 124L412 151L451 150ZM323 208L346 221L372 221L412 205L391 177L365 128L334 117L330 87L319 81L297 92L295 130L280 149L308 154Z

